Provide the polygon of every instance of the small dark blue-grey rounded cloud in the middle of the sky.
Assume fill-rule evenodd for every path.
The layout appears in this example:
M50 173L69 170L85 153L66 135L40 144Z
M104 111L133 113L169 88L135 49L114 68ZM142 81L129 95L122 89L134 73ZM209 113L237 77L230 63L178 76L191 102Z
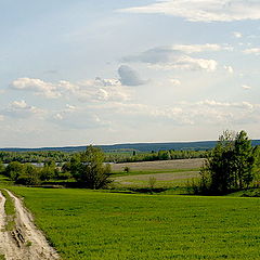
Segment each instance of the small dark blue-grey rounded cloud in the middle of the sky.
M118 68L121 84L125 86L140 86L146 83L145 80L141 79L139 74L127 65L121 65Z

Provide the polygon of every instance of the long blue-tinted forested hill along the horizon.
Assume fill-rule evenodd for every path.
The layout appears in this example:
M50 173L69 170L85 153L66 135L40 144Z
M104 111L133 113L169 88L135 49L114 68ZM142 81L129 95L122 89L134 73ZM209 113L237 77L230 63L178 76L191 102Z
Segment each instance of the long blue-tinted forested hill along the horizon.
M131 144L112 144L112 145L96 145L104 152L158 152L160 150L190 150L190 151L206 151L214 147L217 141L200 141L200 142L172 142L172 143L131 143ZM260 140L252 140L252 145L260 145ZM61 152L80 152L84 151L87 146L65 146L65 147L40 147L40 148L0 148L0 151L8 152L34 152L34 151L61 151Z

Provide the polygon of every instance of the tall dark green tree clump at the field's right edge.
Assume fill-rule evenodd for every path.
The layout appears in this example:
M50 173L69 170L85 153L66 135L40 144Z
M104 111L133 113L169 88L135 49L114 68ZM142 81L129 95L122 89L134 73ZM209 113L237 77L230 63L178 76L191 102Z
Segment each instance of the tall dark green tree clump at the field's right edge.
M225 131L200 171L202 192L225 194L248 188L258 176L258 158L259 150L251 146L245 131Z

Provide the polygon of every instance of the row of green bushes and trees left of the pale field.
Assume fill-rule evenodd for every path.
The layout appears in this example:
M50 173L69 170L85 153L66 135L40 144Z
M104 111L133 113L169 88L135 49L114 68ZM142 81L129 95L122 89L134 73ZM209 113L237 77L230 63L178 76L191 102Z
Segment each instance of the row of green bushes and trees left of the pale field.
M57 167L54 160L46 161L43 167L11 161L6 167L0 164L0 173L16 184L39 185L50 180L70 180L83 187L103 188L110 183L110 165L104 164L104 159L105 155L100 148L89 146L62 167Z

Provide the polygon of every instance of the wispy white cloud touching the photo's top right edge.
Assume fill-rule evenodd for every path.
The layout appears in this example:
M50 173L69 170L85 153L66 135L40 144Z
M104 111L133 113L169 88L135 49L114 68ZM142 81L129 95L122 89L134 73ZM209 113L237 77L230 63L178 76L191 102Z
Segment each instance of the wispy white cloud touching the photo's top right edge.
M162 0L144 6L119 10L184 17L190 22L260 20L258 0Z

